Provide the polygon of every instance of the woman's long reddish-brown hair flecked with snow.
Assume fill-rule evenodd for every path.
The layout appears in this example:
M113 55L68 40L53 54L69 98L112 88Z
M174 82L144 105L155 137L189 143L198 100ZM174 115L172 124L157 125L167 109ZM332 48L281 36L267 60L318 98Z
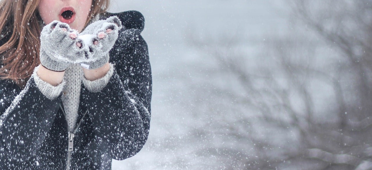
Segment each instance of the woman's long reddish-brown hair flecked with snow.
M33 69L40 64L40 1L0 0L0 42L3 42L0 44L0 79L10 79L20 87L26 85ZM92 0L85 25L96 14L106 12L109 1Z

